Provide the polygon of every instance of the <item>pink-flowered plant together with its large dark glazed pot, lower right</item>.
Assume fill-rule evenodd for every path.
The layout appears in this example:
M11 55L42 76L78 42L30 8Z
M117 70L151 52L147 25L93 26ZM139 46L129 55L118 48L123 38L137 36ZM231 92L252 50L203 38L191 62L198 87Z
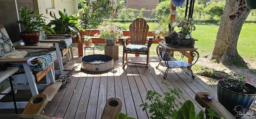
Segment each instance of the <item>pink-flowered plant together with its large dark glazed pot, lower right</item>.
M218 101L235 117L244 115L256 99L256 88L250 78L234 74L218 81Z

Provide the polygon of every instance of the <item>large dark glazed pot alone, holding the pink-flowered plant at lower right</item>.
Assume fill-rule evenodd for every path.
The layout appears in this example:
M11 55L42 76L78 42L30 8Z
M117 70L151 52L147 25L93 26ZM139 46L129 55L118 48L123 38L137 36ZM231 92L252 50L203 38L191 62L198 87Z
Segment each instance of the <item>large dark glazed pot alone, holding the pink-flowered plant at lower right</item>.
M252 94L240 94L224 88L225 82L218 81L218 101L235 117L244 115L256 99L256 88L246 83Z

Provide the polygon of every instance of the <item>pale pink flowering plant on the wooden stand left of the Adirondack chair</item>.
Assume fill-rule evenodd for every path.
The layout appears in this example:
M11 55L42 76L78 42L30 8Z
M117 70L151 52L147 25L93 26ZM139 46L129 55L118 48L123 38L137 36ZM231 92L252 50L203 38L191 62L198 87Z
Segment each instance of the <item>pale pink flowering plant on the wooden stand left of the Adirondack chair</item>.
M123 36L123 31L112 22L103 21L100 23L100 38L105 39L106 37L114 37L114 40L118 41L119 37Z

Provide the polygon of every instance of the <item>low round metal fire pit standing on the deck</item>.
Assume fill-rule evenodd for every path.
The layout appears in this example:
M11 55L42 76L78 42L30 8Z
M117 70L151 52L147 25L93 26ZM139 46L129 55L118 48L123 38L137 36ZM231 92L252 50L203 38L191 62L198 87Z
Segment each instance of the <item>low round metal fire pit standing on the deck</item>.
M109 55L87 55L81 59L82 69L102 72L114 67L114 58Z

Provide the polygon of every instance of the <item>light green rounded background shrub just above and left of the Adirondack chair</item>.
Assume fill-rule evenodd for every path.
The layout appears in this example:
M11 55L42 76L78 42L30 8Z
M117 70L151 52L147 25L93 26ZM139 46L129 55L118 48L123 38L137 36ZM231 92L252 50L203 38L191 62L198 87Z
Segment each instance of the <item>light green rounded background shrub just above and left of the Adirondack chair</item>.
M134 13L135 11L136 9L132 8L122 8L117 18L121 19L122 21L132 21L136 18Z

